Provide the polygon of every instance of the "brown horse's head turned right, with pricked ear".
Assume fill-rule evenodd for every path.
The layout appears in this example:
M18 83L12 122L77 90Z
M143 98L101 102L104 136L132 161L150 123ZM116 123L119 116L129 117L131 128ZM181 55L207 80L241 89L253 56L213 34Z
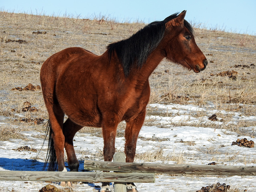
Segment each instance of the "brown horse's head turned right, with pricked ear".
M186 11L183 11L176 18L164 20L166 30L163 48L169 60L198 73L206 68L208 62L196 45L192 27L184 20L185 14Z

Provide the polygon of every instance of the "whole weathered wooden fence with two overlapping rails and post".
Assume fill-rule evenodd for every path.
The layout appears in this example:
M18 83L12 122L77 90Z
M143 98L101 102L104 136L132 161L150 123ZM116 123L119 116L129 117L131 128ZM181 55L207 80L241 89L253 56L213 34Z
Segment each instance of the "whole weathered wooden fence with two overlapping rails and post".
M155 182L155 173L256 176L256 166L174 165L124 161L124 153L116 153L114 162L84 161L86 170L114 172L0 171L0 180L115 182L115 192L124 192L125 182Z

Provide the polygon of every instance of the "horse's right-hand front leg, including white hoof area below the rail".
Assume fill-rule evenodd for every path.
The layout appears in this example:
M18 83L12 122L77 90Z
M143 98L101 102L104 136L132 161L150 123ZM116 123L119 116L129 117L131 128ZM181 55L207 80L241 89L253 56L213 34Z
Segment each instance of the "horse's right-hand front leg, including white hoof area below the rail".
M125 129L125 154L126 162L133 162L136 152L136 143L140 129L143 125L146 114L146 107L136 118L126 121ZM138 192L134 183L126 183L127 192Z

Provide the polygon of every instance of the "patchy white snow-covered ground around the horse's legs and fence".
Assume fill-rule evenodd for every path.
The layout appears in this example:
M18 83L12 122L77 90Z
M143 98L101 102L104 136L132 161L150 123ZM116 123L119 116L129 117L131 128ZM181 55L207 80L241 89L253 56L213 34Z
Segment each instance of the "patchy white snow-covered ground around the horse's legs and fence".
M246 137L248 140L255 140L256 116L244 116L240 112L216 111L211 103L207 107L151 104L149 108L158 111L158 115L146 117L146 121L150 121L152 124L145 124L140 131L136 148L136 162L145 162L138 157L140 154L147 154L152 156L151 162L154 163L206 165L216 162L218 165L256 166L256 147L232 146L232 142L238 138ZM196 115L198 112L204 112L206 116L198 117ZM208 120L208 117L216 113L232 118L229 122ZM0 116L0 120L1 118L6 117ZM219 129L223 123L234 125L240 121L255 122L254 126L242 127L252 137ZM173 125L181 122L186 123L186 126ZM1 124L3 124L2 121L0 126ZM216 125L215 128L214 125ZM16 126L15 128L19 129L20 127ZM42 148L42 135L44 133L27 131L22 132L22 134L26 136L26 140L0 141L0 170L42 170L47 148L47 144L44 144ZM95 154L103 149L101 137L91 136L90 133L77 133L74 140L76 154L80 160L80 170L83 170L84 167L82 160L99 160ZM124 137L116 138L117 151L124 151L124 142ZM21 146L29 146L36 149L36 152L15 150ZM154 157L156 154L158 157ZM217 182L230 185L230 190L256 192L255 176L172 176L157 174L155 183L136 183L136 186L139 192L196 192L203 186ZM47 184L46 182L0 181L0 192L38 192ZM96 183L95 185L101 184ZM58 188L61 187L58 186ZM72 190L94 192L98 189L94 188L94 184L78 183L73 185Z

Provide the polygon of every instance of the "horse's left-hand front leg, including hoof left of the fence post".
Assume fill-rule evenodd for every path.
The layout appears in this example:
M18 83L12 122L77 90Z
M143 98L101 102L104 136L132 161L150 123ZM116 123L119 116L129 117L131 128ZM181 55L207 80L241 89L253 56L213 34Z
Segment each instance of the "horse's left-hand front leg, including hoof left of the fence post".
M110 119L110 120L109 120ZM102 135L104 139L103 156L104 161L112 161L115 153L115 139L116 139L116 129L119 121L114 121L113 118L108 118L108 122L103 123ZM102 187L100 192L111 192L110 183L102 182Z

